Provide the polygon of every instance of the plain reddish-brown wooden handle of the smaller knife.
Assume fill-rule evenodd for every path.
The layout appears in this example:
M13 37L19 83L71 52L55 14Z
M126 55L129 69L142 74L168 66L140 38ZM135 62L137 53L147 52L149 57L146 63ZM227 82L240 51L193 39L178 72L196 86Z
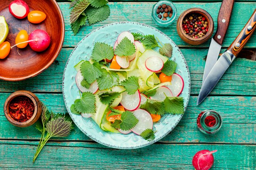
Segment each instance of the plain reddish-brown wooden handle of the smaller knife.
M223 0L218 15L218 26L213 39L220 45L225 38L235 0Z

